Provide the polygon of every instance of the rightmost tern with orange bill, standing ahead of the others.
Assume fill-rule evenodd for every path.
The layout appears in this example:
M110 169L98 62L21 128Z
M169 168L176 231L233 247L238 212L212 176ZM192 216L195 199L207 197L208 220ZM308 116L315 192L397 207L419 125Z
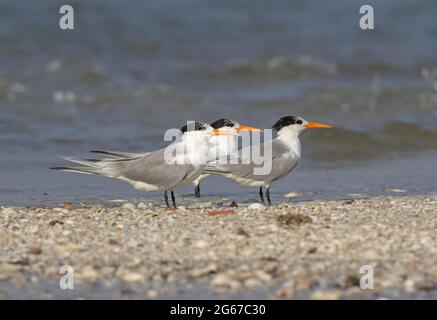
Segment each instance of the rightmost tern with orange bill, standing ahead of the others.
M270 184L278 179L281 179L288 175L298 164L301 159L301 144L299 140L300 134L306 128L332 128L330 125L308 122L301 117L286 116L279 119L275 125L273 125L273 139L272 143L272 163L271 171L266 175L256 175L254 168L257 166L253 162L244 164L241 161L244 151L250 151L250 155L253 152L240 150L237 155L237 164L222 164L223 162L210 162L204 173L223 175L243 186L259 187L259 196L261 202L264 203L263 187L265 187L265 193L267 202L271 205L270 201ZM260 143L257 147L260 150L264 150L264 144ZM246 148L253 148L249 146Z

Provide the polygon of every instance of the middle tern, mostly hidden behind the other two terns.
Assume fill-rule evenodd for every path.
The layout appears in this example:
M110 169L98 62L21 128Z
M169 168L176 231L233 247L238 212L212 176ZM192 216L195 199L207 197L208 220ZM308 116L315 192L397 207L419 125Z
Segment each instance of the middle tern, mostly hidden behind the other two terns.
M225 118L218 119L212 122L211 127L218 129L221 132L240 133L247 132L260 132L261 129L239 124L237 121L229 120ZM226 157L232 154L238 149L238 137L235 135L216 135L209 139L208 150L208 162L215 161L218 158ZM208 177L208 173L201 174L194 184L194 195L196 198L200 198L200 180Z

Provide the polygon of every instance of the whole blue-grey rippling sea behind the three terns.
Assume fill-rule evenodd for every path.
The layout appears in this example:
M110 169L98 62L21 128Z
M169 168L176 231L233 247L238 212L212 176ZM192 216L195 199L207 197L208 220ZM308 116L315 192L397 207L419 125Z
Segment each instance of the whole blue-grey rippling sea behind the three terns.
M73 31L59 28L63 4ZM363 4L373 31L359 28ZM436 12L433 0L2 0L0 203L158 199L48 168L58 155L163 147L186 120L269 128L285 115L335 129L303 134L277 198L435 191ZM203 185L207 197L257 195Z

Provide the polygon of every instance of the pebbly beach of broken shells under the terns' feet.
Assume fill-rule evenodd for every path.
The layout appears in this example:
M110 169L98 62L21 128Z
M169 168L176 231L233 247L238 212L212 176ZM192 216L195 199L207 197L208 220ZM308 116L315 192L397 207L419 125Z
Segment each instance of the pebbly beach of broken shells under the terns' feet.
M0 299L437 298L437 195L230 202L2 207Z

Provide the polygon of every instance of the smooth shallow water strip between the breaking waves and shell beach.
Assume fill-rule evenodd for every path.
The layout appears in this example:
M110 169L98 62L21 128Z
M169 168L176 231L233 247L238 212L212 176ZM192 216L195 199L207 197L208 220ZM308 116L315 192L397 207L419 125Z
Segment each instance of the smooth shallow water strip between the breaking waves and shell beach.
M380 195L403 196L433 194L437 190L437 152L414 157L368 161L361 165L339 164L339 167L318 167L305 161L289 176L272 184L273 202L290 200L286 195L298 193L291 201L312 199L346 199ZM14 163L13 161L8 163ZM143 193L121 181L110 178L47 170L43 161L20 163L3 172L2 205L54 206L64 202L105 202L131 199L164 205L161 192ZM38 166L38 170L35 167ZM20 174L16 174L19 170ZM194 205L194 187L176 189L179 205ZM24 190L24 191L23 191ZM245 188L223 177L209 177L201 182L202 202L225 198L224 205L257 202L258 189ZM115 202L116 204L116 202Z

